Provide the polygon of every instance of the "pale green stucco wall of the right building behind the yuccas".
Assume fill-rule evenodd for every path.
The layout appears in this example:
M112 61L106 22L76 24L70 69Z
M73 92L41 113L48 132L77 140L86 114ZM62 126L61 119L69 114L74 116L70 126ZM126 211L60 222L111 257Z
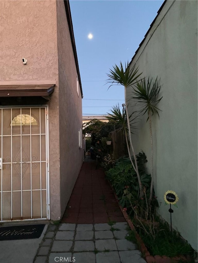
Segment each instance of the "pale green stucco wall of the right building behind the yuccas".
M197 1L167 1L134 63L144 76L158 76L162 84L160 118L152 117L158 212L170 223L163 195L174 190L179 202L178 208L173 207L173 227L197 250ZM130 112L136 109L132 101L130 106ZM136 153L143 150L147 155L150 171L146 118L132 138Z

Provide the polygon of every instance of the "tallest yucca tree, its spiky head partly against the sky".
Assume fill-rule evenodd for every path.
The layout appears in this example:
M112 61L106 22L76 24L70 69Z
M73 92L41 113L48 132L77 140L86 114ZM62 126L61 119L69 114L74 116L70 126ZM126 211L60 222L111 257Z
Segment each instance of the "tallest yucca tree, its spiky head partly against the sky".
M125 67L123 68L123 64L120 61L120 65L116 65L113 66L113 69L110 69L110 73L107 74L107 76L109 77L109 79L107 80L107 83L111 83L111 85L109 86L109 88L112 85L122 85L124 86L124 97L125 97L125 105L126 105L126 117L127 117L127 127L128 127L128 134L129 134L129 142L130 142L130 146L131 146L131 150L133 153L133 157L134 157L134 162L135 165L132 163L134 170L136 171L137 174L137 178L138 178L138 183L139 183L139 187L140 187L140 195L142 194L142 184L141 184L141 180L140 180L140 175L139 175L139 171L138 171L138 166L137 166L137 160L136 160L136 154L133 148L133 144L132 144L132 140L131 140L131 127L130 127L130 121L129 121L129 114L128 114L128 103L127 103L127 88L131 87L133 84L136 83L137 79L139 78L139 76L142 73L138 73L138 68L136 68L136 65L134 65L132 68L130 68L129 63L125 62ZM131 154L129 154L130 156Z

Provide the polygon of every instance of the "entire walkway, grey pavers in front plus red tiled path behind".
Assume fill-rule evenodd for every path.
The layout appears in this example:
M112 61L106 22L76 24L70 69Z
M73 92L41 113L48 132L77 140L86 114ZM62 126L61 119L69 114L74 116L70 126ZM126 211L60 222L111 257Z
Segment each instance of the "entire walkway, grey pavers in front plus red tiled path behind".
M144 263L105 174L89 157L60 225L49 225L34 263Z

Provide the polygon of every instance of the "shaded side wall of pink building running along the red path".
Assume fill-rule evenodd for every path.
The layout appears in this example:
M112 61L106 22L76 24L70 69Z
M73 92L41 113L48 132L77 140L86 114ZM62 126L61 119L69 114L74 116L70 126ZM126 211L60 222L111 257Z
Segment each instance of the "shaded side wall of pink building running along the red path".
M82 129L82 97L77 94L77 71L63 1L57 1L60 119L60 193L64 213L83 162L78 130Z

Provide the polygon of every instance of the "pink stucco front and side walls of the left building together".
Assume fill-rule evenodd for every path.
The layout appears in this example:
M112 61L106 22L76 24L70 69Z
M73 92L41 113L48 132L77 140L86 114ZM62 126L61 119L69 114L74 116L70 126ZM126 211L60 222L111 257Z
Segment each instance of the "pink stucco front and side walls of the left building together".
M0 1L0 81L50 80L56 83L49 105L50 218L59 220L83 162L78 147L82 98L63 1ZM22 58L28 60L22 63ZM59 131L59 132L58 132Z

